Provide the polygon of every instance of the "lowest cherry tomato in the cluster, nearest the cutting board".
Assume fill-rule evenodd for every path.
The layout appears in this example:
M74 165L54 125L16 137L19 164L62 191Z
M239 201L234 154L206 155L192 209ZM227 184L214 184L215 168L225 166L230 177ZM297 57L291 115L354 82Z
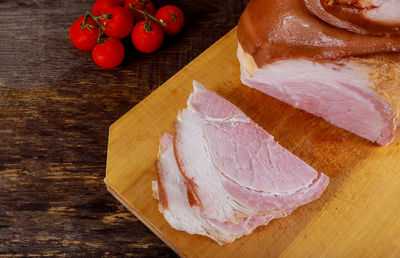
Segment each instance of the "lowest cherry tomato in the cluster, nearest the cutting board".
M107 69L120 65L124 55L124 46L121 41L114 38L104 41L103 44L97 44L92 52L94 62Z

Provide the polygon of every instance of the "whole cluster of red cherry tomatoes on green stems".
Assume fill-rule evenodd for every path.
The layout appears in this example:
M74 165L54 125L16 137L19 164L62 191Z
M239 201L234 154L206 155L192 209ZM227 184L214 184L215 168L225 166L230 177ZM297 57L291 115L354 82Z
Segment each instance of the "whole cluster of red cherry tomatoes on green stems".
M114 68L125 56L120 39L131 35L137 50L152 53L161 47L164 34L178 34L183 24L183 12L174 5L155 11L150 0L97 0L92 12L72 24L69 38L79 50L92 51L99 66Z

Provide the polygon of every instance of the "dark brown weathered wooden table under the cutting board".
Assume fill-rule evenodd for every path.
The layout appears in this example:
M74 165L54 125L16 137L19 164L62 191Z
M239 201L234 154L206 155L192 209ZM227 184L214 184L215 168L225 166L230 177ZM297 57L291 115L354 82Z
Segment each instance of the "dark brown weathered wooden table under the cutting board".
M174 256L107 191L108 127L233 28L248 1L154 1L181 35L112 70L69 41L93 0L0 0L0 256Z

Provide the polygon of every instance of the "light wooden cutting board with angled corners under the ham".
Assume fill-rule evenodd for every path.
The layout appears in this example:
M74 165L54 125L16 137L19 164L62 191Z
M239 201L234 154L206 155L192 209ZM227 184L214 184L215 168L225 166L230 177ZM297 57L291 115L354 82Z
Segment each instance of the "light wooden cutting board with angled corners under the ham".
M177 254L189 257L400 256L400 140L379 147L240 82L236 29L110 127L108 190ZM173 61L173 60L171 60ZM158 141L198 80L331 178L322 197L232 244L176 231L157 209Z

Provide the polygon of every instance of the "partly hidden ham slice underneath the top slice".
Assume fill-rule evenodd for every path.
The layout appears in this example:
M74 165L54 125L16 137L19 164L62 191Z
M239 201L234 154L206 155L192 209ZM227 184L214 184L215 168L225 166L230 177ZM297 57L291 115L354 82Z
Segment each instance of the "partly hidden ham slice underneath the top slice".
M222 245L250 234L256 227L266 225L272 219L287 216L292 212L285 210L265 216L254 215L241 218L238 224L221 223L199 214L190 206L189 190L179 172L172 144L173 137L165 133L160 140L157 181L153 181L153 192L160 200L160 212L173 228L210 237Z

